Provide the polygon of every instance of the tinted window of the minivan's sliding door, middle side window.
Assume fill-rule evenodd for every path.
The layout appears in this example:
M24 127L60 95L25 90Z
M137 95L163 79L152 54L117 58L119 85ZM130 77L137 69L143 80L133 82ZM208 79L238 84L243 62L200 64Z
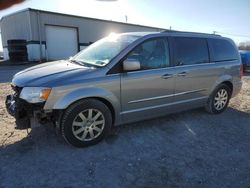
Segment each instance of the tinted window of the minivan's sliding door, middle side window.
M174 46L176 65L193 65L209 62L206 39L176 37Z

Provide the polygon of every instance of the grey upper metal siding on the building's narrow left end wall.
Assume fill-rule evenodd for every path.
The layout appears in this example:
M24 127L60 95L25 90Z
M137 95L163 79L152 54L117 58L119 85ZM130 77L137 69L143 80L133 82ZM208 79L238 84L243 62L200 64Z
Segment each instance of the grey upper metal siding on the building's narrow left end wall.
M9 39L31 40L32 38L29 11L3 17L0 27L3 47L7 47Z

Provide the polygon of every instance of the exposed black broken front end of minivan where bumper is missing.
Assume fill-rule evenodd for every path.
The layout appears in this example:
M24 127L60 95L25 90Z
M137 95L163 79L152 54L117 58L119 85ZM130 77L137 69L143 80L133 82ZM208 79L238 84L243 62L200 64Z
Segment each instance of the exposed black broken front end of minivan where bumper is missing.
M19 98L22 88L12 87L14 94L6 97L5 105L8 113L16 120L15 129L32 128L52 120L52 113L45 113L44 103L31 104Z

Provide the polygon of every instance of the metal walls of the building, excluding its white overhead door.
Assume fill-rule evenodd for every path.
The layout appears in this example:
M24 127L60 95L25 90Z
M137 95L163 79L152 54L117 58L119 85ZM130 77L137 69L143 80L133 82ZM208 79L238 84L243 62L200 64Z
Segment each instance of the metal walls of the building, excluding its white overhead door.
M78 31L78 49L109 35L111 32L160 31L163 29L118 23L53 12L26 9L1 20L2 43L5 59L8 59L7 40L27 40L30 61L48 59L46 52L46 25L73 27Z

